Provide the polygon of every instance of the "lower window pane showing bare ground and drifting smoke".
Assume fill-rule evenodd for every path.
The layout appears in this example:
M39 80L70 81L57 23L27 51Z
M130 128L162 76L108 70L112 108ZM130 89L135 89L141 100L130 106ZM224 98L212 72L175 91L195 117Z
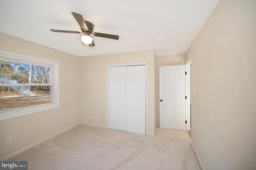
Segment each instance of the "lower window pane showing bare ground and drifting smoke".
M0 87L0 111L51 102L51 86Z

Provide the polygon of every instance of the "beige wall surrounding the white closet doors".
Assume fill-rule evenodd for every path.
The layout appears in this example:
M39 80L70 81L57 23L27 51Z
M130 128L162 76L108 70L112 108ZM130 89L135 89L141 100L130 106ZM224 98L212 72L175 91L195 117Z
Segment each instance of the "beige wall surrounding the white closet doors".
M154 50L95 55L82 58L83 103L80 121L107 127L107 65L148 63L148 133L155 130L155 57ZM99 119L96 115L99 114Z

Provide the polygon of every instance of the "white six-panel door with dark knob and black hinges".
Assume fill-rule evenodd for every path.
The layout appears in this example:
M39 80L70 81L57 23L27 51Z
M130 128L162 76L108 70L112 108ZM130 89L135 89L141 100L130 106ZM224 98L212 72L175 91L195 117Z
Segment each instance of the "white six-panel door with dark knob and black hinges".
M160 128L185 130L185 65L159 67Z

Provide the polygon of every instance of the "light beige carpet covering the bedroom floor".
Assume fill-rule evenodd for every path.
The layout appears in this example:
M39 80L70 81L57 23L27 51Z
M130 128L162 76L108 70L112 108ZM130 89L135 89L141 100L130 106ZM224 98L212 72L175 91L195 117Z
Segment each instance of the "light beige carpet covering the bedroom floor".
M8 160L33 170L200 170L188 132L157 128L147 136L79 125Z

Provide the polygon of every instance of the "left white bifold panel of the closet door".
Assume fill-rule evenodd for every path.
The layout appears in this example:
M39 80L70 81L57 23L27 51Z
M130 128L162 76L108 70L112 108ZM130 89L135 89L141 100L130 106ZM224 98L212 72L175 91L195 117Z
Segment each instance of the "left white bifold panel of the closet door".
M109 67L109 128L126 131L126 66Z

